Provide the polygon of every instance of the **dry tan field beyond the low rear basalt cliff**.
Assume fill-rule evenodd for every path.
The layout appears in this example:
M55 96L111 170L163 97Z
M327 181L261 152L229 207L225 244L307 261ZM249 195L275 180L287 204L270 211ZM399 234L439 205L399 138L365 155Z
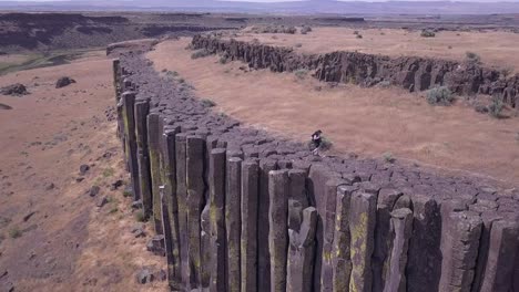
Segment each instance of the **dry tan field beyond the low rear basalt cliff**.
M358 31L363 35L357 39ZM314 28L308 34L238 33L236 40L252 41L271 45L293 46L303 53L326 53L333 51L358 51L369 54L391 56L416 55L449 60L464 60L466 52L481 56L486 65L519 69L517 44L519 33L488 31L461 32L441 31L435 38L423 38L420 31L400 29L348 29ZM296 44L301 48L295 48ZM297 45L297 46L298 46Z

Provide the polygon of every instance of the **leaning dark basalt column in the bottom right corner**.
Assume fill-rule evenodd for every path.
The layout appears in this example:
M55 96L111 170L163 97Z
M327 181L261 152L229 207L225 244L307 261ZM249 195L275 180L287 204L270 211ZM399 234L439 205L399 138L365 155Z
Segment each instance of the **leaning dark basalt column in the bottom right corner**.
M480 291L516 291L513 273L519 254L519 222L493 222L489 243Z

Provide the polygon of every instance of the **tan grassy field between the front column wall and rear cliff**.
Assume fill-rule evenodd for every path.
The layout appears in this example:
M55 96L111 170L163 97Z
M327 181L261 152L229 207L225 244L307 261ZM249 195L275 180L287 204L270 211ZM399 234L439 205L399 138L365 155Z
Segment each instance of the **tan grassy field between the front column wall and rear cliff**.
M309 76L265 70L245 73L241 62L222 65L216 56L192 60L192 51L184 49L187 43L187 39L166 41L147 56L157 71L179 72L195 86L197 96L215 101L216 111L250 125L302 142L320 128L339 153L370 157L391 153L400 160L438 169L519 182L517 117L495 119L461 103L434 107L399 88L330 88Z

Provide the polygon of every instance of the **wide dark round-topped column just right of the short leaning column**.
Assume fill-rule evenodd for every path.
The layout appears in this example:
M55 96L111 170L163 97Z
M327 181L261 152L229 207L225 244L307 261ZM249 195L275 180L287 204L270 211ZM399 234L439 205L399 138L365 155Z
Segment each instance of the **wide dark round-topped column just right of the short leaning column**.
M413 205L413 237L407 261L408 290L438 291L440 239L444 234L439 207L432 198L421 195L414 197Z

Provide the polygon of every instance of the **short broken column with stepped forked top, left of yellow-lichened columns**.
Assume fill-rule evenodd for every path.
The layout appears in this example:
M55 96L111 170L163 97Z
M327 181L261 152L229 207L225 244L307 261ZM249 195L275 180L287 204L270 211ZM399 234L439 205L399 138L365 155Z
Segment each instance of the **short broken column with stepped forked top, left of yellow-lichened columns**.
M317 210L314 207L308 207L303 210L302 217L299 231L288 230L286 291L311 292Z

